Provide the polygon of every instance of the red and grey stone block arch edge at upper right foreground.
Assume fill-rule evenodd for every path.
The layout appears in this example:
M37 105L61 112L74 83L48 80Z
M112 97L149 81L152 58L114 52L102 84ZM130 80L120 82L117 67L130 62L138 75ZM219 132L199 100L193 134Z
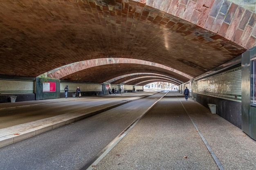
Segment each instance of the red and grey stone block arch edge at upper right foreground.
M256 45L256 13L233 2L227 0L133 1L182 18L231 40L245 49L250 49ZM147 11L143 11L143 13L148 15ZM159 18L159 20L162 19Z

